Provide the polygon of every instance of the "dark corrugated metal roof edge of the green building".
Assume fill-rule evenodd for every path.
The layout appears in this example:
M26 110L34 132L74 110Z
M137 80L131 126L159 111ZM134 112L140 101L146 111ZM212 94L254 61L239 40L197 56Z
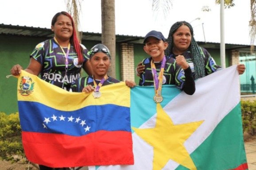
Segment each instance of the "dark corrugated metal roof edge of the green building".
M0 24L0 34L4 35L16 35L16 36L28 36L28 37L44 37L52 38L54 33L48 28L19 26L19 25L5 25ZM86 41L101 41L101 33L83 32L82 40ZM135 43L143 44L144 37L130 36L130 35L116 35L117 43ZM206 49L220 49L220 43L216 42L197 42L198 45L205 47ZM237 50L250 50L250 45L239 44L225 44L225 49L237 49ZM255 48L256 49L256 48Z

